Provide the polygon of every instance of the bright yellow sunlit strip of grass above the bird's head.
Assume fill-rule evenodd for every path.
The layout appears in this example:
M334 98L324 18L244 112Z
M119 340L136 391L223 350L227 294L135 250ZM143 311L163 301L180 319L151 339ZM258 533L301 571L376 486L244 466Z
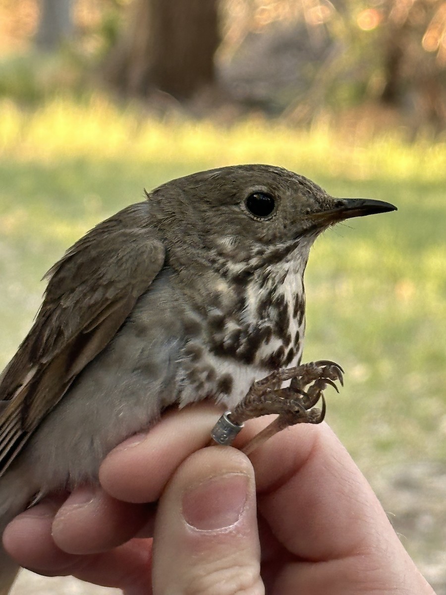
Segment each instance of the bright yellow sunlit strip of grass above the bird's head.
M59 98L31 112L8 100L0 104L0 155L21 161L266 161L349 179L446 179L445 142L420 139L410 146L401 142L398 131L362 140L354 131L334 133L323 121L309 132L256 118L225 126L215 124L215 118L196 122L177 115L163 123L136 107L120 109L104 96L85 104Z

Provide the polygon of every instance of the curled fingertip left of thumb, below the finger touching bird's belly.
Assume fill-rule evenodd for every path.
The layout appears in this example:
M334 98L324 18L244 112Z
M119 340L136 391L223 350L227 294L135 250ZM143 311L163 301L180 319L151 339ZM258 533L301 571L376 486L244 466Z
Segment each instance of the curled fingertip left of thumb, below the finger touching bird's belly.
M99 487L84 486L59 508L52 537L64 552L103 552L130 540L153 515L149 505L120 502Z

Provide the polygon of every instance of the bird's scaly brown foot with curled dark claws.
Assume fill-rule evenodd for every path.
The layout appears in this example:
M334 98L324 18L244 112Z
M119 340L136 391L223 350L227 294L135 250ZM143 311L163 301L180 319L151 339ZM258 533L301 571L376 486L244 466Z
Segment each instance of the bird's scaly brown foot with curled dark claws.
M235 406L234 411L227 412L225 421L220 423L232 424L230 433L235 437L237 428L243 427L248 419L278 414L271 424L242 449L244 453L249 454L290 425L320 424L325 417L323 391L330 385L339 392L335 381L338 380L343 386L343 372L340 365L325 359L294 368L279 369L254 382L246 397ZM290 386L282 388L282 383L287 380L291 380ZM315 408L319 400L322 402L321 409ZM217 440L215 432L212 436Z

